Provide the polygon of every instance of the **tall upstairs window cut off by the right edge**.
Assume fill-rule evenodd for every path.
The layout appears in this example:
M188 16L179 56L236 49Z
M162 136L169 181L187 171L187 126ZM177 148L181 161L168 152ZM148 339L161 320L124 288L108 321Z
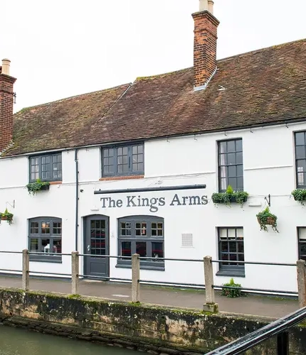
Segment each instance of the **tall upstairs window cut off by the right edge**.
M297 188L306 188L306 132L295 133L295 173Z

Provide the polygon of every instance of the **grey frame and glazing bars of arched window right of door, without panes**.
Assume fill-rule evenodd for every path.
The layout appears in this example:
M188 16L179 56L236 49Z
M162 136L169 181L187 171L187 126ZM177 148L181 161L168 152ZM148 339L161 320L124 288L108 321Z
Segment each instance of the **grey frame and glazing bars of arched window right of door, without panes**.
M147 234L146 236L136 236L136 223L146 222L147 223ZM120 224L121 223L131 223L131 235L121 236L120 235ZM162 236L152 236L152 223L162 223ZM163 246L163 256L164 256L164 218L155 217L149 215L139 215L139 216L127 216L118 219L118 232L117 232L117 250L119 256L121 256L121 243L125 241L131 242L131 253L136 253L136 242L146 242L147 243L147 255L152 255L152 242L162 243ZM149 226L148 226L149 225ZM158 232L157 232L158 234ZM149 257L148 256L148 257ZM117 258L117 266L122 268L131 268L132 262L127 259ZM164 260L158 261L144 261L140 260L140 268L148 270L158 270L164 271Z

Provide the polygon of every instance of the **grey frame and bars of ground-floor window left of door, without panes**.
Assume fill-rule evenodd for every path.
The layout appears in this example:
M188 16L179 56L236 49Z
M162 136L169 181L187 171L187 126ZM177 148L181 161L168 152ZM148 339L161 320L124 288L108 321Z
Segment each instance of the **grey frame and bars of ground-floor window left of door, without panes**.
M38 234L31 234L31 222L38 222ZM50 222L50 233L42 234L41 232L41 222ZM53 222L60 222L61 233L53 234ZM58 227L56 227L58 228ZM50 246L53 246L53 239L60 239L62 251L63 252L63 221L58 217L33 217L28 219L28 250L31 251L31 239L38 239L38 245L41 247L41 239L50 239ZM40 248L41 249L41 248ZM51 255L43 255L43 254L32 254L30 253L30 261L43 261L48 263L61 263L62 256L56 255L55 253L50 253Z

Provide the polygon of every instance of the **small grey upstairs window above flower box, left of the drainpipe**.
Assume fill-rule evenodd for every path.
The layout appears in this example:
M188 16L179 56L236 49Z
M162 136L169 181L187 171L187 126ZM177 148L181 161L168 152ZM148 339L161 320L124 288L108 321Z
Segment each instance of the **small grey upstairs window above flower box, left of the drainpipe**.
M62 180L62 153L30 157L30 182Z

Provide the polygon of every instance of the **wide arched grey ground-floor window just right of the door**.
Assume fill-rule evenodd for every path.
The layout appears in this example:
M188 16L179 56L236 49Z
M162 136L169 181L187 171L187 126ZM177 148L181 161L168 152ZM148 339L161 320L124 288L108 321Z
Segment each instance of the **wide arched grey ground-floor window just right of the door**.
M141 268L164 270L164 219L153 216L129 216L118 221L118 255L137 253ZM131 261L118 258L118 266L131 266Z

